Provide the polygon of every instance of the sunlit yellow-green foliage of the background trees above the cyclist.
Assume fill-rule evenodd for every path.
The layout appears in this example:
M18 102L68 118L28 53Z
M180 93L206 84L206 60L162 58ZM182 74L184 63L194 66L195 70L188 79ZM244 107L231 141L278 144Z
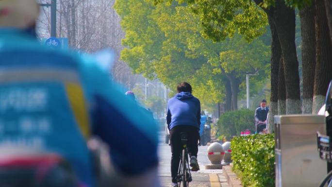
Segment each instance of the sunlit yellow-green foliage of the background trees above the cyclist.
M135 73L158 78L170 88L188 81L194 95L206 103L224 101L227 75L232 74L240 83L246 72L261 69L266 75L268 46L260 39L251 39L248 44L238 34L224 42L205 39L192 7L176 2L168 7L164 3L153 6L152 1L117 0L115 8L126 32L123 45L127 48L121 59Z

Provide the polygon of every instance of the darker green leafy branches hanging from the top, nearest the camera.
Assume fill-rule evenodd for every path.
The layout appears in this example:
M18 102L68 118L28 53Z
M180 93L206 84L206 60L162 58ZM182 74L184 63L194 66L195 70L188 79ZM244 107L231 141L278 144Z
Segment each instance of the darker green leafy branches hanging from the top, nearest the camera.
M164 0L154 0L155 4ZM173 0L167 0L170 4ZM177 0L187 3L192 12L199 15L202 35L214 41L222 41L235 33L247 41L266 32L267 17L251 0Z

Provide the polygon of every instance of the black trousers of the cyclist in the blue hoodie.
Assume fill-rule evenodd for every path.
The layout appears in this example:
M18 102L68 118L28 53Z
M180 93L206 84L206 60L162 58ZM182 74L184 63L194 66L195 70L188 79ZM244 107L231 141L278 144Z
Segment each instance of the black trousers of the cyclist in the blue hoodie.
M169 131L169 140L172 151L171 173L172 182L176 183L176 175L180 164L180 154L182 153L181 133L187 133L187 148L189 156L196 156L198 153L199 129L190 125L178 125Z

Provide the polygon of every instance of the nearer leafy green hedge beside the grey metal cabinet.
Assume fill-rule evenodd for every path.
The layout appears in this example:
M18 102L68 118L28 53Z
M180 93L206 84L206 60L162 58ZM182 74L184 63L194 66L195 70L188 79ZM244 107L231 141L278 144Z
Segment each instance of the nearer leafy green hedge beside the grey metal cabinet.
M274 134L236 136L231 149L232 170L244 187L275 187Z

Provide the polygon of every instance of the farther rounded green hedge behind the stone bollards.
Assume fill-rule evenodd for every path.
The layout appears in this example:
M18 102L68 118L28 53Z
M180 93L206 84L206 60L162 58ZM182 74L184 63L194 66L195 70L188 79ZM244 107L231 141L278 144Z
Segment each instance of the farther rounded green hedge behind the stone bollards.
M225 112L218 120L219 135L224 135L227 139L232 136L240 136L241 131L249 129L251 133L255 131L255 111L241 109L236 111Z

